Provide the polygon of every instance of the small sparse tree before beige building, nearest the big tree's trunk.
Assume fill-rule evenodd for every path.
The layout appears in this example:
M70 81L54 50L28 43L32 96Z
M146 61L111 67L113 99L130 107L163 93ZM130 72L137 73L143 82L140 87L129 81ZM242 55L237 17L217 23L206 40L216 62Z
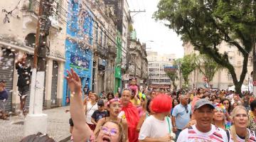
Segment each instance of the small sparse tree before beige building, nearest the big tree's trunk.
M208 55L197 55L195 60L195 65L198 70L208 79L208 82L213 80L215 73L220 69L213 58L209 58Z

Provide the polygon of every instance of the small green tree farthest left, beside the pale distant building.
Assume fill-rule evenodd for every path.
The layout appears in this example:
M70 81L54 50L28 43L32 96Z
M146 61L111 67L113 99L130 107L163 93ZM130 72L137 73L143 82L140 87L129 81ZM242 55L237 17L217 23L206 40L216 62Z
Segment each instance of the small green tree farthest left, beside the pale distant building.
M176 60L180 62L180 68L182 72L182 77L185 81L185 84L188 84L188 75L196 69L195 65L195 54L185 55L183 58Z

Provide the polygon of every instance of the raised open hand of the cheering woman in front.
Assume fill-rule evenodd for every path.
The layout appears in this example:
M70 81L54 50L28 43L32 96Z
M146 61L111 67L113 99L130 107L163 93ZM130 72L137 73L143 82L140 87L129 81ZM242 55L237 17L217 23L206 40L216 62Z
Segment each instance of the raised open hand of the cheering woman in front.
M71 68L70 72L67 70L68 76L65 79L68 81L68 87L72 94L80 94L81 92L81 80L78 74Z

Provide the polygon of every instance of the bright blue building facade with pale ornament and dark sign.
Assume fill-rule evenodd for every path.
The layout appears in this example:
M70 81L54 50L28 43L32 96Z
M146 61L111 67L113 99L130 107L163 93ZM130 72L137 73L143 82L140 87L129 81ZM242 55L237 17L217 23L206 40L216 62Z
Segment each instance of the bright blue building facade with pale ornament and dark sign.
M92 13L84 1L70 1L68 5L67 38L65 39L65 70L72 67L78 73L82 88L92 89ZM67 72L65 72L67 75ZM70 90L66 80L63 82L63 105L68 105Z

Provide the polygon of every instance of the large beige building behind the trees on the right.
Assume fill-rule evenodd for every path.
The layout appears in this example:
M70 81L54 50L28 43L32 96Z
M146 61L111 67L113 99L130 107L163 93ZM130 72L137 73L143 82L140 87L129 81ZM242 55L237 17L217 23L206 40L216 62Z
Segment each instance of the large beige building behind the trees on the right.
M198 51L193 50L193 45L191 43L185 43L183 44L184 48L184 54L189 55L192 53L195 53L198 55ZM220 53L228 53L228 58L230 60L230 63L235 67L235 73L238 77L238 80L240 78L240 74L242 72L242 54L240 51L237 50L237 48L229 45L228 43L221 43L218 45L218 49ZM248 86L249 81L251 80L251 72L252 72L252 55L250 54L250 58L247 64L247 75L245 76L244 83L246 86ZM188 84L189 87L204 87L203 82L203 74L198 70L194 70L191 72L191 75L188 77ZM209 82L209 85L211 88L218 88L218 89L228 89L228 87L233 86L233 78L228 72L228 69L220 69L218 72L215 73L213 80Z

